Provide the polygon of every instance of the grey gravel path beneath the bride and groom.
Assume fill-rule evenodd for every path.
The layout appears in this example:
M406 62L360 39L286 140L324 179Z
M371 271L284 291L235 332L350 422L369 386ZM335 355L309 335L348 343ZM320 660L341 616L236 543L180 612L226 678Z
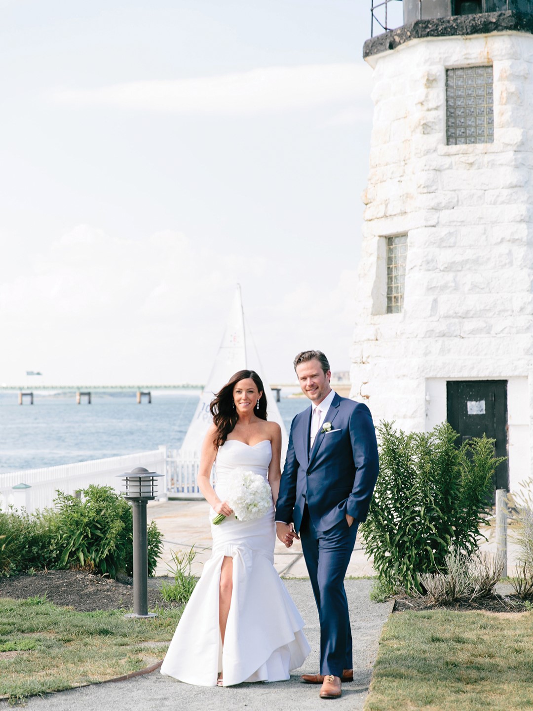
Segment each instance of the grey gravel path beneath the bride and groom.
M50 694L44 698L28 699L28 711L94 711L112 709L131 711L230 711L235 709L286 711L322 709L323 700L318 697L319 686L303 684L300 673L318 672L318 615L308 579L285 581L287 589L306 621L306 635L311 644L311 655L298 674L289 681L271 684L239 684L227 688L203 688L180 683L164 677L159 671L126 681L95 684L70 691ZM370 580L346 580L346 592L352 619L354 641L354 681L343 685L343 697L335 708L350 711L362 710L375 662L377 643L384 621L392 611L392 602L370 602ZM0 702L0 709L9 708Z

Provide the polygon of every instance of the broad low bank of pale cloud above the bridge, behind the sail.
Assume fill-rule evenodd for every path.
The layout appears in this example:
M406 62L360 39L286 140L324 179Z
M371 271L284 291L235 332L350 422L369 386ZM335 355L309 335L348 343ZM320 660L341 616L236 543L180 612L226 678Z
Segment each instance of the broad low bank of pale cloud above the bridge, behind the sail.
M201 383L237 282L269 377L291 378L303 348L348 369L355 271L321 274L317 299L314 272L293 267L171 230L127 240L77 225L0 284L3 378L33 368L45 384Z

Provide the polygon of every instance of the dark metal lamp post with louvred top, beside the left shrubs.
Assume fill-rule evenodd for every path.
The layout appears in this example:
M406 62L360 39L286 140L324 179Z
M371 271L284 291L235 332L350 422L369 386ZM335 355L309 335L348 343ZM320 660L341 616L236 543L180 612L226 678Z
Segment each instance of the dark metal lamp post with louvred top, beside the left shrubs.
M118 474L126 481L124 498L133 506L133 544L134 544L134 611L126 617L156 617L148 611L148 533L146 528L146 503L156 498L156 474L144 466L137 466L133 471Z

